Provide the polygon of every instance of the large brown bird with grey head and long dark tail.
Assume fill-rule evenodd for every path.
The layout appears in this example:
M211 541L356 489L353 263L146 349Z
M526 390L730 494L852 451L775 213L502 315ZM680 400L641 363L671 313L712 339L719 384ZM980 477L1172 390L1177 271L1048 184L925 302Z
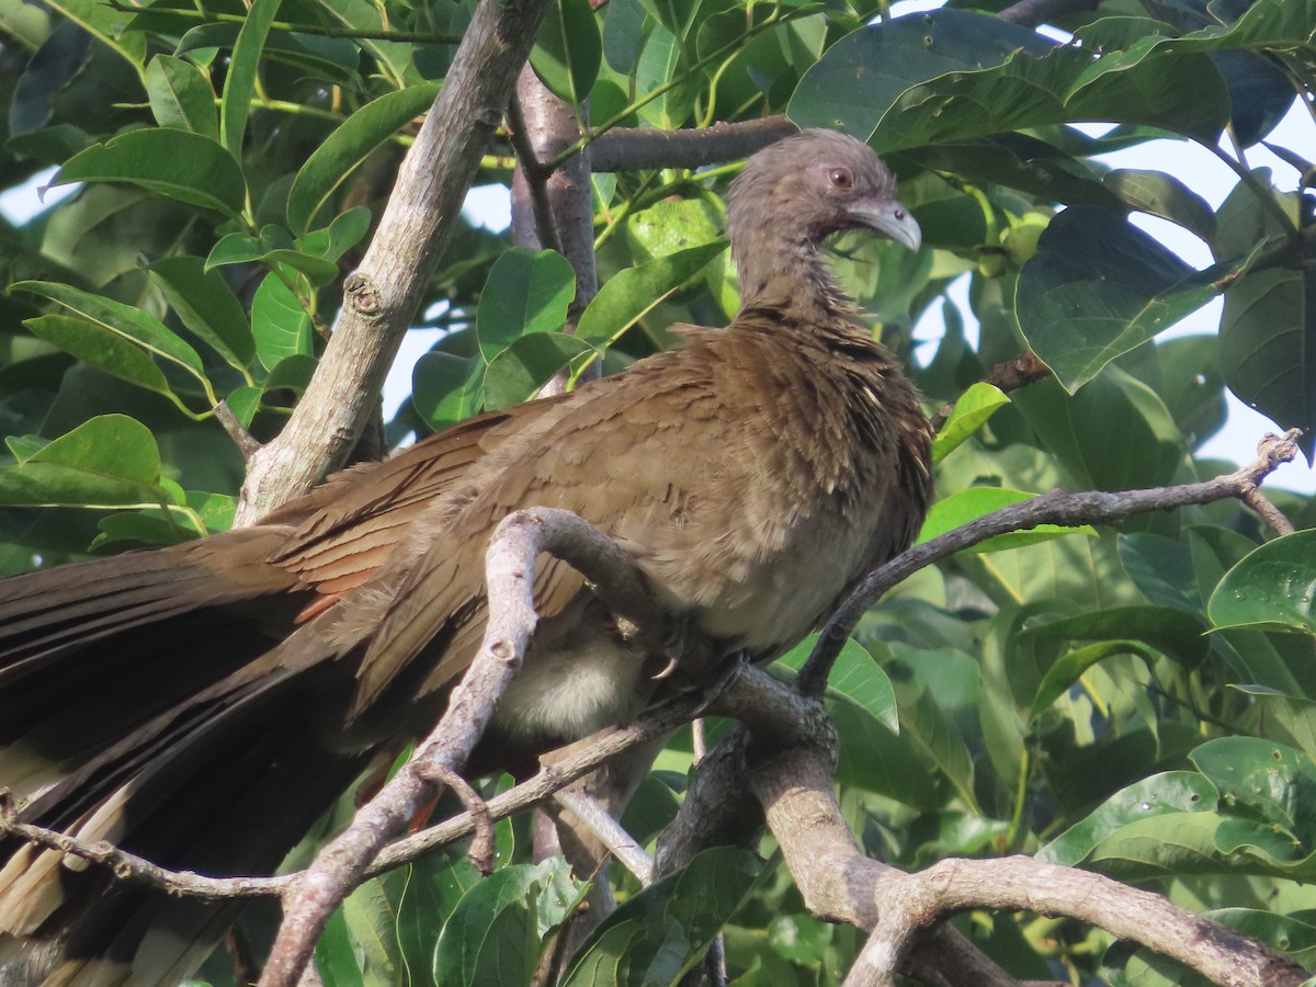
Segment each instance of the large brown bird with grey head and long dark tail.
M726 659L780 655L909 546L932 497L920 396L825 254L850 229L919 250L895 193L862 141L784 138L728 192L726 326L674 326L671 350L353 466L249 528L0 580L17 817L164 867L271 873L438 719L484 629L490 536L519 508L616 540ZM666 658L575 570L545 558L534 584L540 624L482 763L661 692ZM233 917L0 841L0 984L176 983Z

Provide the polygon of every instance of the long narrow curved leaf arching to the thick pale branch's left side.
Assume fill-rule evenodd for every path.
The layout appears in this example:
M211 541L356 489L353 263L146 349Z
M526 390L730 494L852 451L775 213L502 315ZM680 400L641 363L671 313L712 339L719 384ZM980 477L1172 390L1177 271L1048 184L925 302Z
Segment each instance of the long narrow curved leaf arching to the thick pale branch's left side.
M288 190L288 225L304 234L315 228L316 216L334 191L371 151L388 141L399 128L429 109L438 83L409 86L386 93L354 112L329 134L292 179Z

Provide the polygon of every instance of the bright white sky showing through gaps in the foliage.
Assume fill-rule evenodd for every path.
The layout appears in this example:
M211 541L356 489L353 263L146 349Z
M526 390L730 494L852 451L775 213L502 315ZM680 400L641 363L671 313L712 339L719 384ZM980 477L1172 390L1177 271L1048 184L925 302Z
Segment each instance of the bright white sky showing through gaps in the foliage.
M940 5L940 0L901 0L901 3L892 7L892 13L900 16ZM1065 38L1065 36L1055 37L1057 39ZM1316 121L1312 120L1312 114L1305 108L1295 101L1284 120L1267 137L1267 141L1292 149L1303 158L1313 159L1316 158ZM1228 143L1223 146L1228 150ZM1154 168L1171 174L1203 196L1212 208L1219 208L1237 183L1237 176L1229 167L1191 141L1153 141L1138 147L1105 155L1103 161L1111 167ZM1296 168L1286 164L1259 145L1248 150L1248 163L1252 167L1265 166L1273 168L1275 184L1283 191L1296 188L1300 179ZM41 197L38 197L38 190L49 178L50 172L45 172L21 188L0 195L0 212L13 222L24 222L43 208ZM62 186L49 190L43 196L45 207L72 193L74 188ZM466 200L466 213L471 221L480 222L492 230L507 229L511 221L508 190L503 186L484 186L471 190ZM1192 267L1200 270L1212 263L1211 251L1207 245L1183 228L1142 213L1134 213L1130 218ZM967 304L967 275L951 287L950 295L959 307L961 313L966 318L971 318ZM1220 299L1213 300L1169 329L1167 334L1183 336L1217 332L1221 307L1223 301ZM940 338L940 307L937 307L936 311L929 312L915 328L915 337L917 340L932 341ZM408 333L407 341L399 353L399 358L384 387L386 411L391 412L405 400L411 392L412 366L429 350L437 338L438 333L430 330L413 330ZM1202 454L1238 463L1250 462L1255 457L1258 440L1267 432L1277 430L1275 425L1263 415L1244 405L1233 395L1228 395L1228 422L1217 436L1205 443ZM1316 471L1299 461L1282 466L1271 476L1269 484L1302 492L1316 492Z

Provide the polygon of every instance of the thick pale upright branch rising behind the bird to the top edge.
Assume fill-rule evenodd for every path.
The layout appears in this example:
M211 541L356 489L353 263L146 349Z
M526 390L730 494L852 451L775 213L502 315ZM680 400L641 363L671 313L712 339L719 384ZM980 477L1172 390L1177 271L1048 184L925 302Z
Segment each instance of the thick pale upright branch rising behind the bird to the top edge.
M249 463L238 524L299 496L343 463L416 316L466 190L534 43L546 0L484 0L403 158L361 267L307 392L276 440Z

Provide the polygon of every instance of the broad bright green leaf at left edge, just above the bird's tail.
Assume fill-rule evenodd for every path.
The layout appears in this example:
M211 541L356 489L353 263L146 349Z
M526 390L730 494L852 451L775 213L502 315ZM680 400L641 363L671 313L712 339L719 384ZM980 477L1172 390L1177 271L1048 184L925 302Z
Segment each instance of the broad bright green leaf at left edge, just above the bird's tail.
M103 415L47 442L21 466L0 467L8 507L126 507L167 500L150 429Z

